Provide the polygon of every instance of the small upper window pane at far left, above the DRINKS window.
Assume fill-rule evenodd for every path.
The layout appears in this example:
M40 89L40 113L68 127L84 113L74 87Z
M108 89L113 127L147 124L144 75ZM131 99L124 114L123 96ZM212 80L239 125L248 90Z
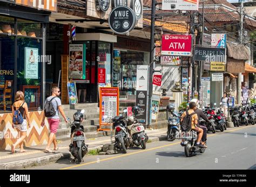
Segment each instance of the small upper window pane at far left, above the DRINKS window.
M11 33L15 34L15 19L5 16L0 16L0 34Z

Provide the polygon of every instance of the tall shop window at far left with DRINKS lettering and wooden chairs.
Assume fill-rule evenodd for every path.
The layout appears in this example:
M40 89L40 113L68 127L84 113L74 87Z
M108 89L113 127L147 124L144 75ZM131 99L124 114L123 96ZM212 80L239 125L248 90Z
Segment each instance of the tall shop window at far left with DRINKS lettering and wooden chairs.
M15 37L0 35L0 112L11 111L14 102Z

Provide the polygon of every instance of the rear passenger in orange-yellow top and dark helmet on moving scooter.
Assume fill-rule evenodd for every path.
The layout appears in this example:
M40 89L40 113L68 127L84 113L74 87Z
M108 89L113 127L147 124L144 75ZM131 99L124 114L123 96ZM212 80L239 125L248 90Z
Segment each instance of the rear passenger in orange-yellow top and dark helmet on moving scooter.
M194 112L194 111L197 109L196 105L197 105L197 104L196 104L195 102L190 102L190 105L189 105L190 109L189 109L188 111L185 111L185 112L181 115L181 120L180 120L180 121L181 121L181 123L182 123L183 118L185 118L185 117L187 116L186 112L188 112L189 115L192 114L192 113L194 113L194 114L192 115L192 120L191 120L191 130L198 132L197 146L198 146L198 147L205 147L204 145L202 145L202 144L200 143L204 131L203 131L203 129L197 127L197 124L198 124L198 116L197 116L197 114ZM183 139L181 139L181 146L184 146L184 140L183 140Z

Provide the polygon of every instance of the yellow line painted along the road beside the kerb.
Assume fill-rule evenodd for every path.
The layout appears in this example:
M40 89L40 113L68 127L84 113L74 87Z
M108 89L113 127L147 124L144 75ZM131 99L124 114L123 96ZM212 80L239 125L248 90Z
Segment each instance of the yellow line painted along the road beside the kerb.
M233 131L241 130L241 129L247 128L247 127L251 127L251 126L236 128L236 129L234 129L234 130L227 131L227 132L233 132ZM227 133L227 132L225 132L225 133ZM224 133L224 132L223 132L223 133ZM223 134L223 133L218 133L218 134ZM218 134L211 134L211 135L208 135L207 137L214 136L214 135L218 135ZM180 142L170 143L170 144L165 145L165 146L159 146L159 147L154 147L154 148L145 149L145 150L139 150L138 152L123 154L123 155L119 155L119 156L113 156L113 157L110 157L110 158L107 158L107 159L102 159L102 160L99 160L99 161L100 161L100 162L103 162L103 161L107 161L107 160L118 159L118 158L120 158L120 157L130 156L130 155L134 155L134 154L138 154L138 153L149 152L150 150L160 149L160 148L163 148L163 147L173 146L173 145L177 145L177 144L180 144ZM61 168L60 170L66 170L66 169L72 169L72 168L82 167L82 166L86 166L86 165L93 164L93 163L97 163L97 162L98 162L98 161L87 162L87 163L79 164L79 165L76 165L76 166Z

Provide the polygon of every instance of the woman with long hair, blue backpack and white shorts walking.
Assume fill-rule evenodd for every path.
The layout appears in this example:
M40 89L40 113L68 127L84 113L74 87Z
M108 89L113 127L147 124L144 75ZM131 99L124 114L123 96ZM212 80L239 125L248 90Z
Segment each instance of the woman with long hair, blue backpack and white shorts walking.
M11 145L11 152L15 153L16 146L19 145L21 153L26 152L23 148L23 142L26 138L26 131L28 130L27 123L30 127L29 109L24 100L24 93L17 91L15 95L15 102L12 105L12 127L18 131L18 140Z

